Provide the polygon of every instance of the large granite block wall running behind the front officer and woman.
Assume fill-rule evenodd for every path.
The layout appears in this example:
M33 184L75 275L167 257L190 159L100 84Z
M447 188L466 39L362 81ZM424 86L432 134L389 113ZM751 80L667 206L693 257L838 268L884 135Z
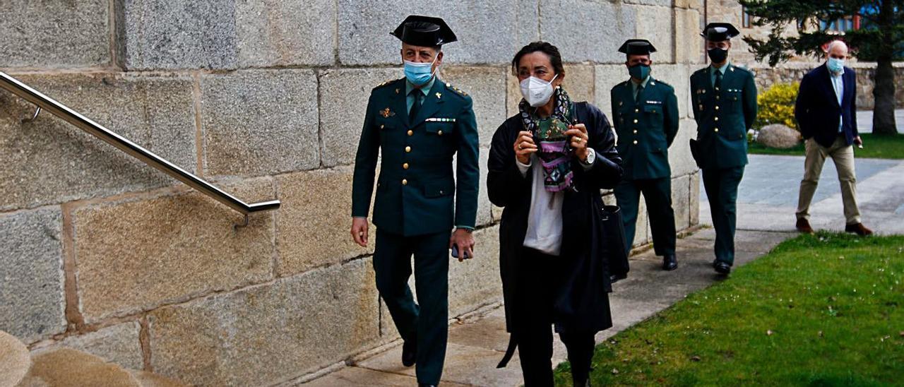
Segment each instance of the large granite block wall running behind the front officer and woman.
M349 235L353 155L370 90L401 77L389 35L444 17L441 77L475 99L482 166L520 99L508 68L560 46L565 87L608 110L618 45L654 41L678 91L670 155L680 230L698 222L688 76L699 0L13 0L0 70L247 201L250 217L0 91L0 330L199 385L290 382L398 335L372 246ZM485 172L484 172L485 173ZM482 186L483 188L483 186ZM476 260L452 262L451 316L501 301L500 209L480 197ZM612 195L606 193L611 202ZM645 216L639 220L646 224ZM638 227L638 244L649 241Z

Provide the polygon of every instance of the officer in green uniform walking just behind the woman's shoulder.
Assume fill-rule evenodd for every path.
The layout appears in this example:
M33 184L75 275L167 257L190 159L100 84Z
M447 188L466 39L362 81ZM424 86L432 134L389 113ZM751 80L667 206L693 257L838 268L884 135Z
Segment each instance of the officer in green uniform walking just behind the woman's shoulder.
M650 53L655 51L644 39L628 39L618 49L627 56L625 65L631 79L610 92L618 155L625 169L615 192L628 250L634 243L637 204L640 193L644 193L653 249L663 257L663 269L673 270L678 268L678 260L668 149L678 133L678 99L672 86L650 76Z

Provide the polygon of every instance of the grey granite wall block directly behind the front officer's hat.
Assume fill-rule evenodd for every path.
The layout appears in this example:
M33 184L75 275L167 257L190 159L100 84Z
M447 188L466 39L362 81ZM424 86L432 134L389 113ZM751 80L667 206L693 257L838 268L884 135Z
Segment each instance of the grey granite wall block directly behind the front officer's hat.
M458 37L443 50L447 63L505 63L523 43L518 10L511 2L465 0L419 1L399 6L396 0L339 0L339 61L350 65L401 64L398 39L389 33L405 16L442 17ZM529 31L529 30L528 30Z

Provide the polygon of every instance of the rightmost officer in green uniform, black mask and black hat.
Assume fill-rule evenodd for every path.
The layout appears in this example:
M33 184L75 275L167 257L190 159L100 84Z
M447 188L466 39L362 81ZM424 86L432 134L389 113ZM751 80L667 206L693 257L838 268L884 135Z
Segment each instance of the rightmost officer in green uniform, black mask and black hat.
M729 63L730 39L739 35L728 23L707 24L701 35L711 64L691 75L697 140L692 153L703 171L716 230L713 268L722 274L734 263L738 184L747 165L747 130L757 118L757 85L753 73Z

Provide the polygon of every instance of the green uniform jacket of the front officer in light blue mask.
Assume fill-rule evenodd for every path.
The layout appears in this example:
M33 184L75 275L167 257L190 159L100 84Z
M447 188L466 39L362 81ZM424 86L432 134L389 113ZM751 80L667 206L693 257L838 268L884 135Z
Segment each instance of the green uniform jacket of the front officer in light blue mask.
M404 78L373 89L354 163L352 216L366 217L370 211L381 154L374 225L404 236L450 231L453 226L473 229L480 172L472 105L464 91L437 79L412 125ZM456 154L457 188L452 168Z

